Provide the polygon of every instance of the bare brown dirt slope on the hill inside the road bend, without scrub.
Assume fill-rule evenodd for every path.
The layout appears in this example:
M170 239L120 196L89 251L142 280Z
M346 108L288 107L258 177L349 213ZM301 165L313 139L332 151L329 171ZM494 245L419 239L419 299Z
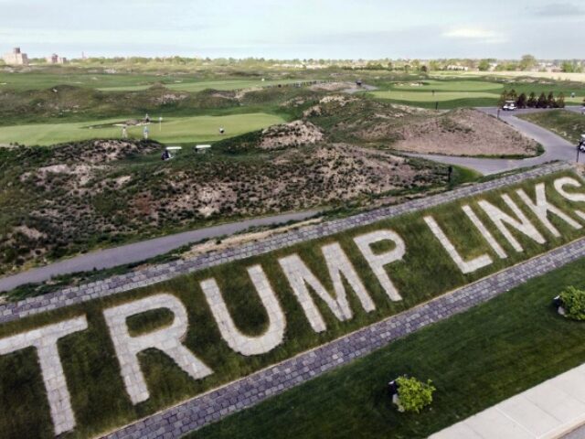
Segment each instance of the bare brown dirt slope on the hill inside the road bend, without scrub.
M365 138L392 135L401 151L444 155L535 155L537 143L507 123L477 110L455 110L399 127L380 124Z

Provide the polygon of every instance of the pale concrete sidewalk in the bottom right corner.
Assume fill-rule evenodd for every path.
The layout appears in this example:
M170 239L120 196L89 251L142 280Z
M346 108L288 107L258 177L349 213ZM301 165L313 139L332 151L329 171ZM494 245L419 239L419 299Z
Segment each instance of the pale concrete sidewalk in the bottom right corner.
M553 439L579 432L575 429L583 423L585 365L455 423L430 439Z

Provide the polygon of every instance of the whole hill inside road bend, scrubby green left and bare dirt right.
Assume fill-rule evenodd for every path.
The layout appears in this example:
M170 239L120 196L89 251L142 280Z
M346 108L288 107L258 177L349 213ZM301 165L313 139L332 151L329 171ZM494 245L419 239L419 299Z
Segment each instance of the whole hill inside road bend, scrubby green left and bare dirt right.
M473 109L435 112L345 95L291 105L302 105L303 116L335 140L416 153L537 154L534 140Z

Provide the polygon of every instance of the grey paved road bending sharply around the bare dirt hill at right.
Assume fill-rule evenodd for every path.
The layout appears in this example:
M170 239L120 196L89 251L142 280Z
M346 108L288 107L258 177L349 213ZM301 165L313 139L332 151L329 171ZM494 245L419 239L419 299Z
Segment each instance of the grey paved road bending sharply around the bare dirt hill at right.
M497 108L495 107L484 107L478 108L478 110L495 116L497 114ZM569 111L580 112L580 107L568 107ZM516 117L517 114L526 114L528 112L542 112L547 110L517 110L515 113L500 112L500 119L505 123L510 124L520 133L527 135L528 137L536 140L542 145L546 152L543 155L533 158L525 159L502 159L502 158L475 158L475 157L459 157L452 155L432 155L432 154L409 154L411 156L418 156L428 158L430 160L446 163L449 165L459 165L470 167L482 174L495 174L510 169L517 169L526 166L542 165L553 160L575 160L576 149L575 145L571 144L567 140L553 134L548 130L529 123ZM585 159L585 158L584 158Z

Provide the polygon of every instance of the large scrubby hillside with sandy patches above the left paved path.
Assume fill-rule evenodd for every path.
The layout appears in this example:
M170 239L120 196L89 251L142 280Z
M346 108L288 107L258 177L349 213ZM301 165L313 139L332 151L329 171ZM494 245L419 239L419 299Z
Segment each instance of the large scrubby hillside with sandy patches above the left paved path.
M355 145L216 147L206 155L186 148L166 162L151 142L0 149L0 273L218 220L367 205L446 184L444 166Z

